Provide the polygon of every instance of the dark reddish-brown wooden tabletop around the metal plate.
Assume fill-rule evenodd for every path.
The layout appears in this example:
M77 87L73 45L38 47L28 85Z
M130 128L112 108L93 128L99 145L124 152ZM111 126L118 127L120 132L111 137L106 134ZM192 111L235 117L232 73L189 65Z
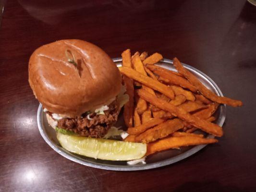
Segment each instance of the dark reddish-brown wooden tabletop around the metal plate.
M126 48L177 57L244 106L227 107L218 144L178 163L132 172L74 163L41 137L28 84L32 52L70 38L111 58ZM7 0L0 90L0 192L256 190L256 6L245 0Z

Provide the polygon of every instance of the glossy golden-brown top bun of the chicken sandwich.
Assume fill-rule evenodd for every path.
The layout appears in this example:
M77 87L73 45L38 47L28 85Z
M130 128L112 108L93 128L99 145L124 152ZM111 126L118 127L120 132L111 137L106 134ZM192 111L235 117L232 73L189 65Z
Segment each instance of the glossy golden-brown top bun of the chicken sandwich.
M67 52L73 54L77 66L68 62ZM121 74L107 53L78 39L37 48L28 72L29 84L43 107L68 117L106 104L121 89Z

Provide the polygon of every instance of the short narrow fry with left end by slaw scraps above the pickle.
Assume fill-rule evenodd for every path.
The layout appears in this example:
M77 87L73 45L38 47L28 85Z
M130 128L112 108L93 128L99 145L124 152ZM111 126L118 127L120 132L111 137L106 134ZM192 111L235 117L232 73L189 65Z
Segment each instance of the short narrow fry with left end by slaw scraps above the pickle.
M164 119L160 118L152 118L151 120L148 120L146 123L141 124L140 126L137 127L129 127L127 132L129 134L135 135L135 134L140 134L142 132L145 132L147 129L150 127L154 127L160 123L164 122Z

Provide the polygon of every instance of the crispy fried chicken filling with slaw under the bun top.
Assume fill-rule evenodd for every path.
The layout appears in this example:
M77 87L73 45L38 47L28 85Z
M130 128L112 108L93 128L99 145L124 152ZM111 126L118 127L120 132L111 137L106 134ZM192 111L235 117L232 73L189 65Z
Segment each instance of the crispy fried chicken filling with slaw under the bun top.
M125 94L125 91L125 87L122 86L119 95L109 105L103 105L100 108L87 111L80 117L63 118L58 114L51 113L46 108L44 111L49 114L60 129L85 137L102 138L117 121L120 109L129 100L129 96Z

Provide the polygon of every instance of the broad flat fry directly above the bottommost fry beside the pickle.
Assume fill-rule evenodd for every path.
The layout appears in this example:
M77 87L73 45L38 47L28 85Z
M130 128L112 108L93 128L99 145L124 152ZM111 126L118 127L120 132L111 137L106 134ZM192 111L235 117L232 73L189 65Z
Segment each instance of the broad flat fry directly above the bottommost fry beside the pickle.
M154 128L146 130L135 138L136 142L149 143L158 139L164 138L173 132L176 132L184 127L183 121L175 118L167 120Z

